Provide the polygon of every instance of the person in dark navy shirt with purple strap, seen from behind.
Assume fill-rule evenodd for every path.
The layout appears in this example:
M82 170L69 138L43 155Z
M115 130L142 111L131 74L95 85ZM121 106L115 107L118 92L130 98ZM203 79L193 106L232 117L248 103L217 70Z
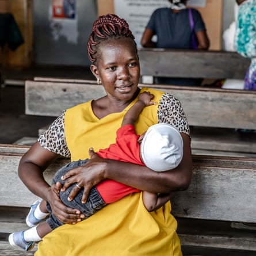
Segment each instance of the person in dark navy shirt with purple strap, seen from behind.
M169 8L159 8L152 13L140 41L142 47L207 50L210 43L200 12L186 8L186 0L169 2ZM154 35L157 36L156 42L152 41ZM194 35L196 47L193 46ZM155 78L155 83L172 85L200 86L201 82L202 79Z

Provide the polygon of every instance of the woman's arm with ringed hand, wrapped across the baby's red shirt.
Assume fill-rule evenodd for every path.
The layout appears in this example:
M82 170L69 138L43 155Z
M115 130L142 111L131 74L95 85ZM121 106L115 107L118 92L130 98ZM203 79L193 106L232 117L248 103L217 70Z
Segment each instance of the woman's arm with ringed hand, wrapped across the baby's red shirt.
M82 201L86 201L89 190L106 178L114 179L150 193L170 193L185 190L188 188L192 178L192 155L190 137L185 133L181 133L181 136L184 141L184 154L181 163L175 169L156 172L146 166L103 159L90 150L91 159L89 162L63 175L63 179L66 179L66 182L62 190L77 182L84 188ZM77 192L78 190L74 186L70 193L70 200L75 197Z

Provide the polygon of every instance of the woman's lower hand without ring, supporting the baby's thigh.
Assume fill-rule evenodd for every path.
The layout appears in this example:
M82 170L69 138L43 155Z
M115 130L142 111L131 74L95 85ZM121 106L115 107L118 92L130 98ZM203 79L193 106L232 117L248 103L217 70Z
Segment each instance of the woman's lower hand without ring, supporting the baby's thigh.
M53 184L49 188L49 204L51 205L52 213L65 224L77 224L85 215L81 214L77 209L66 207L59 198L59 191L62 188L60 182Z

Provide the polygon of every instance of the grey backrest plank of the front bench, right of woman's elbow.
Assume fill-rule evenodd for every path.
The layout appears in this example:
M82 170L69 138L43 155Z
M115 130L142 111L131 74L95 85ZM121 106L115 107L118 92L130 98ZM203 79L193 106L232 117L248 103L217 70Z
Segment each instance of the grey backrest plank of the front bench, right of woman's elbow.
M177 217L255 223L256 159L193 155L189 189L175 192Z

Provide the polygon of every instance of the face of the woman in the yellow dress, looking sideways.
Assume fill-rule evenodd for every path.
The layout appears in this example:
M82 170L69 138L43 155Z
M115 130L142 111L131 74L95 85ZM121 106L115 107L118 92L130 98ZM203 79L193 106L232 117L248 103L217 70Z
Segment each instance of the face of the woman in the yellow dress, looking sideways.
M102 42L97 51L97 66L91 65L91 71L101 79L108 97L131 100L140 79L135 44L123 37Z

